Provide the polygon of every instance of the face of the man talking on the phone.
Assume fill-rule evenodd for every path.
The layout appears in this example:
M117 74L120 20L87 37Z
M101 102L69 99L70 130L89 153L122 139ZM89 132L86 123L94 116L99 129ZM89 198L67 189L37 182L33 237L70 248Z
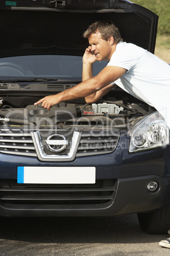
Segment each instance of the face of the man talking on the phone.
M88 38L89 45L91 46L91 52L93 52L98 61L110 60L112 56L112 47L110 40L105 41L101 38L100 32L96 31L95 34L91 34Z

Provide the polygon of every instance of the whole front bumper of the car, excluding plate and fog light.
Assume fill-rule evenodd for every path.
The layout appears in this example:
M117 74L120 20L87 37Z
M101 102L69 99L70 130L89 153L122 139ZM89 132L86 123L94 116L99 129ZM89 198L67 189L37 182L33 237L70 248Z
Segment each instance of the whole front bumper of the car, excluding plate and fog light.
M0 154L0 216L113 216L162 208L170 194L166 157L167 148L129 154L119 146L113 153L77 157L67 164ZM94 166L96 183L20 184L18 166ZM150 181L157 181L156 192L147 190Z

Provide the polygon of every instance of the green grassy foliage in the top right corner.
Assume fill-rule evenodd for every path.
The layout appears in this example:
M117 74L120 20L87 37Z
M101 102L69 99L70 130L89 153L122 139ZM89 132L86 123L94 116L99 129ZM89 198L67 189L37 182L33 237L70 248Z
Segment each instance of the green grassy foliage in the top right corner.
M170 0L131 0L159 16L158 34L170 34Z

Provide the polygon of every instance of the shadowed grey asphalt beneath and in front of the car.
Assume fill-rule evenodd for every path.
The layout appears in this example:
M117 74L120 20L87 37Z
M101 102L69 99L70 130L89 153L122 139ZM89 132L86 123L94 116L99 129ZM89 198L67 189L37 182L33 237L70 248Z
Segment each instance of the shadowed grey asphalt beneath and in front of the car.
M0 255L170 255L166 235L145 234L136 215L1 218Z

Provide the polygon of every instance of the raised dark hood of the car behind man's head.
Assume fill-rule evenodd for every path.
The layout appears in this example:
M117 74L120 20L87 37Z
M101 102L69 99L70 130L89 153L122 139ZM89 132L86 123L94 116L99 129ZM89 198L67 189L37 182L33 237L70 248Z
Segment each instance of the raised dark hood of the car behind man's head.
M154 53L158 17L124 0L16 0L0 3L0 57L83 55L82 33L100 19L112 20L126 42Z

